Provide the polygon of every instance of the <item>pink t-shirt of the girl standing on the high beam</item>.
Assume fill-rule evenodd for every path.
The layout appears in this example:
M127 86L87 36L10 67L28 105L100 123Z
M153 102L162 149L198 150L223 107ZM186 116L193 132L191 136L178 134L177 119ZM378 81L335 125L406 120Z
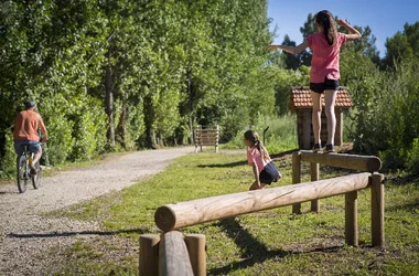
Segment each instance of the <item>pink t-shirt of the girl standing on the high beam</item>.
M346 42L346 35L337 33L337 41L334 45L329 45L323 33L314 33L307 38L313 56L311 59L311 83L324 83L327 79L340 79L339 73L339 53L341 46Z

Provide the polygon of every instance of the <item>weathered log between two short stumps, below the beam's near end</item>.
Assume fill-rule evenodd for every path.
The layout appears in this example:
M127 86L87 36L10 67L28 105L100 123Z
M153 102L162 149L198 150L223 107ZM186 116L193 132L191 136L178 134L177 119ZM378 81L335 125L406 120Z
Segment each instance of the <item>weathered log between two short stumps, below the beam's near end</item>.
M160 276L193 276L190 255L181 232L163 233L159 254Z

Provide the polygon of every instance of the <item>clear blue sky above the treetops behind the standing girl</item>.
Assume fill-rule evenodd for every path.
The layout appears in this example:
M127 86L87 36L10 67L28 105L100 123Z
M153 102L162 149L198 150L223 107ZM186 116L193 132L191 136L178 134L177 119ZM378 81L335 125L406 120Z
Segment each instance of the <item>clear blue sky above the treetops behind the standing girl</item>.
M273 43L280 44L286 34L297 44L301 43L300 28L308 14L321 10L329 10L352 25L369 25L382 57L386 53L387 38L402 31L406 22L419 21L419 0L268 0L270 30L278 28Z

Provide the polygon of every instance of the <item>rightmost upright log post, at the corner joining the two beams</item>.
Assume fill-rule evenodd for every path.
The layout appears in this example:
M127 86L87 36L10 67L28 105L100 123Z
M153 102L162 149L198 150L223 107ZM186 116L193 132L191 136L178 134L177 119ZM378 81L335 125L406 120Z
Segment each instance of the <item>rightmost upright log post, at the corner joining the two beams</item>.
M372 195L372 244L373 246L384 247L384 176L373 173L370 195Z

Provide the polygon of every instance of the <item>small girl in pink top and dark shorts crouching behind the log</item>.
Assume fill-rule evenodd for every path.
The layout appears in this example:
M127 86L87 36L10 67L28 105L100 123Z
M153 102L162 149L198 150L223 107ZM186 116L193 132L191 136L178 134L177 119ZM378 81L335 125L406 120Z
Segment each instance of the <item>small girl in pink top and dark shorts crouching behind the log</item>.
M264 144L259 140L258 134L254 130L247 130L244 142L247 146L247 161L253 166L255 174L255 182L249 190L264 189L267 184L278 182L282 176L270 159Z

